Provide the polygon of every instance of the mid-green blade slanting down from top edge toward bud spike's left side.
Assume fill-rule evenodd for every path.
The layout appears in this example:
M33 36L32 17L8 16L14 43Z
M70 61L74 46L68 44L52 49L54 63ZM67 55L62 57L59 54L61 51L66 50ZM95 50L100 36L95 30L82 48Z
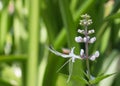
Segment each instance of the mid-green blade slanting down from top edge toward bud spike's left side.
M69 47L75 46L74 37L76 36L76 27L69 9L67 0L59 0L60 11L62 14L63 23L67 31L67 39ZM77 45L78 46L78 45Z

